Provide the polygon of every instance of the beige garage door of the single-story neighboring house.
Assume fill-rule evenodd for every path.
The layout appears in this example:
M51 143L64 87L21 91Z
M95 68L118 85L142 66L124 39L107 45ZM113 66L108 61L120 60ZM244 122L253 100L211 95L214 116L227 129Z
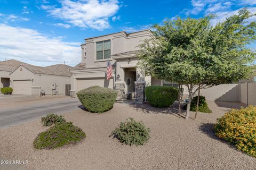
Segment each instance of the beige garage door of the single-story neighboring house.
M13 94L32 95L31 80L13 81Z

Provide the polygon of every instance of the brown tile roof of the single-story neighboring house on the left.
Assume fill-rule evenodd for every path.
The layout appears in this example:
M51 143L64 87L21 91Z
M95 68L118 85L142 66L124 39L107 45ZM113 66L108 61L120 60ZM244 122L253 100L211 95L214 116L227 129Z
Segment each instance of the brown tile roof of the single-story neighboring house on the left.
M13 72L18 66L22 65L29 71L38 74L51 74L51 75L65 75L70 76L70 70L73 68L66 64L56 64L51 66L35 66L27 63L23 63L17 60L8 60L0 62L0 70Z

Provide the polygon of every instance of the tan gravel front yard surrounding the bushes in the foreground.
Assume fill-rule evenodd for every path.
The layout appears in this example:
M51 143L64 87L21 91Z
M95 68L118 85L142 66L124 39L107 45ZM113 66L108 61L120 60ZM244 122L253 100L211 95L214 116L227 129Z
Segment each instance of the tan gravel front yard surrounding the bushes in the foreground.
M103 114L79 109L65 118L83 129L86 139L55 150L33 148L36 135L47 129L40 120L0 129L0 157L28 160L28 169L255 169L255 158L219 140L212 130L217 117L241 105L208 103L213 113L199 113L197 120L173 114L178 113L177 106L156 109L117 103ZM128 117L150 128L151 139L145 146L130 147L109 137Z

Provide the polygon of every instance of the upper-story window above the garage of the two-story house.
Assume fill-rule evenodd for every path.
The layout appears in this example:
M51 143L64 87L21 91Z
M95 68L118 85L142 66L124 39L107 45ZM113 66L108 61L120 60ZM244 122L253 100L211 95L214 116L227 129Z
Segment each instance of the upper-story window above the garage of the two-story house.
M110 58L110 40L96 43L96 59L103 60Z

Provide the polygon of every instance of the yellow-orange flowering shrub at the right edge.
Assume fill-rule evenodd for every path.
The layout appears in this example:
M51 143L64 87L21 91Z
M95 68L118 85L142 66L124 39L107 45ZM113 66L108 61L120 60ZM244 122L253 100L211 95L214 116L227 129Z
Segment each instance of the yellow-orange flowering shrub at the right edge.
M214 130L219 138L256 157L256 107L232 109L217 119Z

